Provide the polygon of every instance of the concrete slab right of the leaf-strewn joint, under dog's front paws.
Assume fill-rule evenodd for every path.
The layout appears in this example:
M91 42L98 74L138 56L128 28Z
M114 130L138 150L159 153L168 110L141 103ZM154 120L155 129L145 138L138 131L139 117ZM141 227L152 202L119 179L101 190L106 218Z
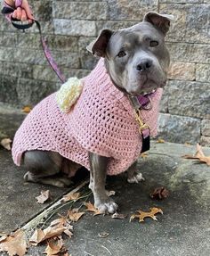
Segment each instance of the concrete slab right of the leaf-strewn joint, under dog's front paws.
M210 148L204 151L210 154ZM128 214L127 219L85 214L73 224L74 236L71 239L64 237L69 254L208 256L210 171L204 164L182 159L185 153L195 153L195 146L154 142L149 156L138 164L146 178L143 183L132 185L125 182L124 176L110 177L107 188L116 191L114 200L119 204L120 212ZM149 198L150 192L158 186L169 190L168 198L163 201ZM164 211L164 215L158 214L158 221L129 222L134 211L149 211L155 206ZM101 232L109 235L101 238ZM28 253L42 255L44 248L44 245L31 247Z

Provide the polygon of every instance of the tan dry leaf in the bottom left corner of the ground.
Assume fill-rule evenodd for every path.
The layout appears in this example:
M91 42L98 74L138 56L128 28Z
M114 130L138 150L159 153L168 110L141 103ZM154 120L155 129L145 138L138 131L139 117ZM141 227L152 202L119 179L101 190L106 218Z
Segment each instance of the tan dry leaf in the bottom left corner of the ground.
M27 252L27 244L25 240L25 233L18 229L6 239L0 242L0 252L8 252L10 256L23 256Z

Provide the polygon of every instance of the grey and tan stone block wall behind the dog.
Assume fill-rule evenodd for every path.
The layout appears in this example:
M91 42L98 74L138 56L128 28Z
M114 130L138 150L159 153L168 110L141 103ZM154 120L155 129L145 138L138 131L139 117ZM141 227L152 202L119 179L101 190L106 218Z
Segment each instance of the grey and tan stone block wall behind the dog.
M102 28L141 21L145 12L174 14L166 37L172 62L159 136L177 143L210 145L209 0L32 1L53 57L67 77L83 77L96 62L85 50ZM0 102L34 105L60 87L44 59L34 26L25 34L0 17Z

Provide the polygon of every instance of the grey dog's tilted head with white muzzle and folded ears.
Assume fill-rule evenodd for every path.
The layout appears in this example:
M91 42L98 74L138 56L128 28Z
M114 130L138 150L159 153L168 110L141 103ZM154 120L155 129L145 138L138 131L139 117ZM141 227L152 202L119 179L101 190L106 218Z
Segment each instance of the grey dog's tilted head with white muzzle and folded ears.
M88 50L105 58L110 77L125 93L149 93L166 85L170 60L165 36L171 20L172 16L149 12L131 28L102 30Z

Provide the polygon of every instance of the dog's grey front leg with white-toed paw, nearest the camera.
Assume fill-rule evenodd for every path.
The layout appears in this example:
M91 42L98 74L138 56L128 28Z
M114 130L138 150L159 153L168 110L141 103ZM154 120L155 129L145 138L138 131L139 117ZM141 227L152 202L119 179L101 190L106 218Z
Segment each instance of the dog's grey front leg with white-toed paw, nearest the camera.
M117 211L117 203L106 194L105 182L109 158L89 153L90 161L90 189L93 191L94 206L102 213L114 213Z

